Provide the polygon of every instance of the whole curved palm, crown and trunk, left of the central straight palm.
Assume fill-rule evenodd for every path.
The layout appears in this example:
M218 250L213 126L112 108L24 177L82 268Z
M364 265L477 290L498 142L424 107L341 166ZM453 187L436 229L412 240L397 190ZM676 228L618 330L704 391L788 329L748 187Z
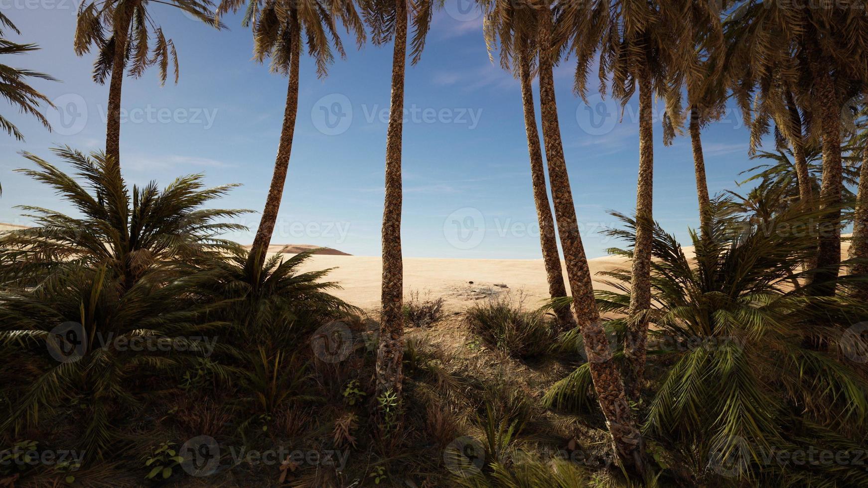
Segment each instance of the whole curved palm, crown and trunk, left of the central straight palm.
M245 3L246 0L223 0L217 13L223 15L229 11L236 12ZM273 72L289 75L277 159L274 161L266 205L250 250L254 269L259 269L265 264L268 244L271 243L274 225L277 223L286 170L293 151L295 118L299 108L299 57L302 54L302 37L307 43L308 55L316 62L317 75L323 77L327 74L328 65L334 61L332 44L342 58L346 57L337 31L338 23L343 23L347 31L352 30L358 47L365 42L365 26L353 3L348 0L253 0L242 20L245 27L251 23L253 58L264 62L270 57Z

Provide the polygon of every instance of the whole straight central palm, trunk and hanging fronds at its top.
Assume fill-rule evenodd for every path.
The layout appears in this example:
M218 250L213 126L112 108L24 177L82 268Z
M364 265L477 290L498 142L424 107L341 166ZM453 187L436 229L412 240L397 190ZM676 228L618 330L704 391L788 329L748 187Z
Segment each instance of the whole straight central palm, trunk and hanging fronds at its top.
M372 41L382 45L394 40L391 58L391 106L385 141L385 202L383 205L383 282L380 285L377 394L393 396L400 404L404 373L404 263L401 257L401 145L404 129L404 68L407 57L407 23L413 21L412 63L422 56L431 28L432 0L361 0ZM411 7L414 10L411 11Z

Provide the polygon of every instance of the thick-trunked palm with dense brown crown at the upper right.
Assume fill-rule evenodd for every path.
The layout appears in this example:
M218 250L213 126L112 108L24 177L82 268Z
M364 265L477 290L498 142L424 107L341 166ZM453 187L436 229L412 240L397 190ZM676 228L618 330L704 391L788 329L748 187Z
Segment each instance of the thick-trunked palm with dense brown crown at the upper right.
M755 84L792 90L796 105L813 114L811 137L822 141L823 179L819 205L832 209L819 222L813 290L835 294L841 250L841 111L868 83L868 29L864 2L792 9L755 0L734 5L740 18L727 22L730 59L747 76L735 94L747 112ZM860 8L850 8L850 7ZM775 100L778 97L774 97ZM776 111L782 113L783 110ZM794 119L794 118L793 118ZM794 131L793 131L794 132Z

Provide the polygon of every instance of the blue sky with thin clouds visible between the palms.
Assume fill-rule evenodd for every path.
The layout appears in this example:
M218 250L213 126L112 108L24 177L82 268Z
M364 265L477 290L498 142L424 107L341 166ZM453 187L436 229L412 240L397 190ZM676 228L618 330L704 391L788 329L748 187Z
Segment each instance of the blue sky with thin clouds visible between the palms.
M421 62L407 68L404 256L539 258L518 82L489 61L482 18L467 10L466 2L447 0L435 16ZM0 222L29 224L15 205L69 207L13 172L29 166L17 152L58 163L49 153L51 146L101 149L108 86L91 79L93 54L73 53L75 1L10 0L2 5L23 33L10 37L42 48L3 63L62 80L34 83L63 112L49 109L54 133L0 104L3 115L27 138L0 138ZM181 80L161 88L155 68L141 79L125 78L121 151L126 179L138 185L155 179L164 185L181 174L205 172L208 184L243 185L219 206L261 211L277 150L286 78L251 61L251 34L240 26L240 17L225 18L230 30L218 32L179 10L153 7L156 22L177 46ZM347 59L337 60L324 79L317 78L309 59L301 62L293 154L273 243L325 245L376 256L391 45L369 44L357 51L347 42ZM573 67L568 60L557 69L556 95L582 238L589 257L598 257L618 245L598 233L617 224L607 211L635 208L637 109L631 101L619 122L618 107L599 94L591 94L592 107L587 107L571 92ZM734 111L703 132L712 193L733 189L738 172L751 166L747 140ZM690 141L683 136L673 146L663 146L659 118L654 165L654 217L686 240L687 228L698 222ZM252 242L257 215L243 221L251 231L230 237Z

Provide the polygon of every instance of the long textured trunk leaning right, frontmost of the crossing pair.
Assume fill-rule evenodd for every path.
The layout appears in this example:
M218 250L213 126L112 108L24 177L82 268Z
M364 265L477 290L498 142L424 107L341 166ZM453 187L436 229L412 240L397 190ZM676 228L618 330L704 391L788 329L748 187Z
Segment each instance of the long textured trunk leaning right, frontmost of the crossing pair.
M542 139L545 142L549 164L549 183L555 204L557 231L561 237L564 261L567 264L569 289L573 294L575 317L584 339L585 352L590 363L591 378L615 452L636 472L644 472L641 433L630 412L621 374L615 366L609 349L608 337L603 329L594 298L588 258L585 256L582 236L575 218L573 194L569 186L567 165L563 157L561 127L557 120L555 81L552 73L551 13L542 10L540 29L540 112Z

